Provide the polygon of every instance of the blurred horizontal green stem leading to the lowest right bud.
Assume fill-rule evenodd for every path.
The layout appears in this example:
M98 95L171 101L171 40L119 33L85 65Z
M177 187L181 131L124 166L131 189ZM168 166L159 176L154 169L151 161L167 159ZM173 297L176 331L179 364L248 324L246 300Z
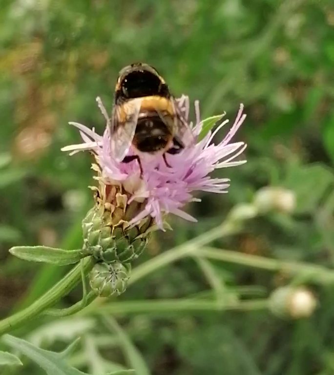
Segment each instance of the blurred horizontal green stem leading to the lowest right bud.
M150 301L122 301L109 302L98 309L88 306L83 314L107 313L112 315L154 313L170 314L172 312L221 312L221 311L252 311L266 310L268 308L267 299L254 299L250 301L224 301L223 304L217 301L195 300L195 299L165 299Z

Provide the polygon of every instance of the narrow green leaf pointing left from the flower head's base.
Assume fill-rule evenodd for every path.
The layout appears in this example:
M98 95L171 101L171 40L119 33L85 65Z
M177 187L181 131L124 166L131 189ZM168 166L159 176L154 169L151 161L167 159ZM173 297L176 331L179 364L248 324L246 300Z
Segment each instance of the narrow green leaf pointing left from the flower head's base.
M50 263L56 266L78 263L84 257L81 250L63 250L47 246L15 246L9 252L20 259Z

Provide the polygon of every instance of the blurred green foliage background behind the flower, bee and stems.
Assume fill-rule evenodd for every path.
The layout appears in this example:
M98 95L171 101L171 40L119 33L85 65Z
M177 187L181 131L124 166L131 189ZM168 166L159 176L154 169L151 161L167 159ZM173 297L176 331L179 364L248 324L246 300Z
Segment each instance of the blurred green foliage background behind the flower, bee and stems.
M66 272L15 259L9 247L81 246L81 220L93 202L91 159L60 151L80 138L67 122L102 132L95 97L110 108L117 73L131 62L155 66L175 96L199 99L203 118L226 110L232 120L239 103L248 114L236 136L249 145L248 163L219 174L231 178L230 193L203 194L202 203L188 207L196 225L171 218L174 231L156 233L138 265L218 225L230 208L269 185L294 192L294 212L250 220L215 245L333 268L332 0L2 0L0 42L1 316L29 304ZM230 291L243 287L265 298L289 282L284 273L210 263ZM309 319L184 312L121 316L119 323L152 375L330 375L334 286L309 287L319 301ZM198 264L184 259L138 281L117 301L209 290ZM80 293L72 292L64 306ZM113 362L131 367L114 335L92 319L68 318L54 327L40 320L18 335L44 327L37 342L52 350L82 335L72 362L90 374L103 374ZM43 374L29 361L10 371Z

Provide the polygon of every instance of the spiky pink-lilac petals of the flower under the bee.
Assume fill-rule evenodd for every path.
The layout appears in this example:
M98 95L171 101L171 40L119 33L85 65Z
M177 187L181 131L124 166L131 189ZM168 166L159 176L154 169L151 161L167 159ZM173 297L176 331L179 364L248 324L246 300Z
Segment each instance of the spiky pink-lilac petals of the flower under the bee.
M100 100L98 105L108 123L107 112ZM189 99L182 96L177 104L185 119L188 121ZM200 121L198 102L195 102L196 124L190 127L195 139L201 133L203 122ZM229 120L223 121L212 132L209 131L203 139L183 149L175 155L167 155L169 166L162 155L141 157L143 173L136 160L130 163L117 162L111 154L110 129L106 126L104 134L97 134L82 124L70 123L80 130L84 143L63 147L63 151L74 154L82 150L90 150L96 160L93 169L98 172L96 177L100 183L99 195L106 202L107 192L113 187L119 187L116 194L126 198L125 205L136 203L132 210L133 217L125 220L126 225L138 225L141 220L153 218L156 226L164 227L164 217L168 213L178 215L186 220L195 222L196 219L183 210L191 201L200 201L193 194L196 191L213 193L227 193L230 186L228 178L212 178L210 173L215 169L235 167L246 163L245 160L236 160L246 148L244 142L230 143L232 137L244 122L243 105L240 105L234 124L223 140L214 144L213 139L217 132ZM129 153L135 151L130 147ZM115 194L114 194L115 198ZM114 199L115 201L115 199ZM127 215L128 216L128 215Z

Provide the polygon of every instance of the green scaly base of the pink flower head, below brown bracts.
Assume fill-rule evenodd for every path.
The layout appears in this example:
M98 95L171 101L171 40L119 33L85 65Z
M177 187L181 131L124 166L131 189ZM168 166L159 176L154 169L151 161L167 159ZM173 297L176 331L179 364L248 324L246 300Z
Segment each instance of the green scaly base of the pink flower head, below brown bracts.
M135 227L127 230L113 227L101 207L88 211L83 220L83 234L84 254L106 263L132 262L143 252L148 240L147 237L137 238L141 233Z

